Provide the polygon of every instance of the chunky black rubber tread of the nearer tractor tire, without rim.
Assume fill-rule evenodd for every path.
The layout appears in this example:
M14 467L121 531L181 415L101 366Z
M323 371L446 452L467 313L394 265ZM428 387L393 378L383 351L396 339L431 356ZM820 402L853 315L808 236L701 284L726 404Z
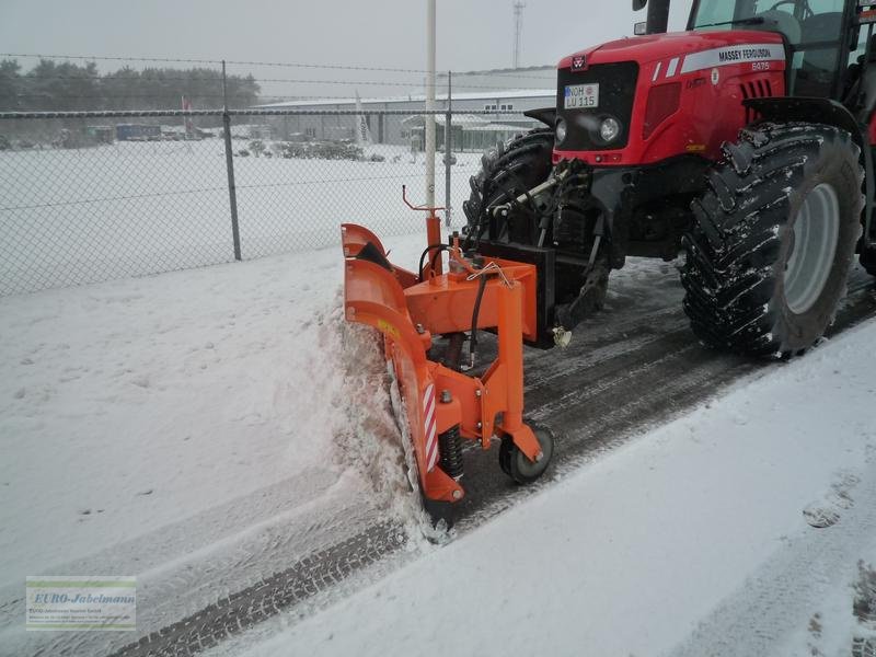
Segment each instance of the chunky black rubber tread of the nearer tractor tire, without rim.
M762 124L723 146L682 240L683 308L705 345L752 356L799 351L775 332L775 270L791 195L826 140L856 152L848 132L818 124Z

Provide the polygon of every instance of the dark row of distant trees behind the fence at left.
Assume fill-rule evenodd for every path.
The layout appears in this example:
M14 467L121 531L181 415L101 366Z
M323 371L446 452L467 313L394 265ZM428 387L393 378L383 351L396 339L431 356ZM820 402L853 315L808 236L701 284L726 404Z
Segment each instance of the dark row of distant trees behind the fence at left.
M252 76L230 74L226 83L229 107L258 103L260 87ZM126 66L101 74L93 61L78 65L41 59L24 72L18 60L0 60L0 112L180 110L182 96L193 110L220 108L221 71Z

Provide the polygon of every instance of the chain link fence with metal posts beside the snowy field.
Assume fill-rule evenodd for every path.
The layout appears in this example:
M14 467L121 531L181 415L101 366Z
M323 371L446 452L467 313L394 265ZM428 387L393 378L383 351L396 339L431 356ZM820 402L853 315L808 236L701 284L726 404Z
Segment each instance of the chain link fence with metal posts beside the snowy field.
M483 150L531 122L436 118L436 199L460 226ZM425 123L415 111L0 114L0 296L325 247L347 221L417 232L402 185L424 200Z

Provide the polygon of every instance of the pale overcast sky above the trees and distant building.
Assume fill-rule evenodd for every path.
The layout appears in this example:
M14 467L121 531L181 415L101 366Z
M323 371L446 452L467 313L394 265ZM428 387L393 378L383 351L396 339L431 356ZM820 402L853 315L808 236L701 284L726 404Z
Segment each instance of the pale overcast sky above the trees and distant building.
M438 0L438 68L511 66L512 0ZM631 0L527 0L523 66L553 65L595 43L632 33ZM676 2L672 27L690 0ZM215 0L0 0L4 53L205 58L297 64L425 68L426 0L216 2ZM28 68L34 60L21 60ZM114 70L120 62L101 64ZM135 65L137 66L137 65ZM250 72L233 67L232 72ZM257 78L377 80L417 85L419 76L308 69L254 69ZM277 84L274 83L273 88ZM325 93L283 83L276 93ZM550 87L550 84L549 84ZM335 85L335 93L351 89ZM361 88L385 93L387 89Z

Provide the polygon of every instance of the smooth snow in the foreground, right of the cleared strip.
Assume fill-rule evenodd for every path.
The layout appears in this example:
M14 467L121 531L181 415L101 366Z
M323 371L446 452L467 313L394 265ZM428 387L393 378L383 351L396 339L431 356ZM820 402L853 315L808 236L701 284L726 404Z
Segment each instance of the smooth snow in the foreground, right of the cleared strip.
M744 381L326 611L212 654L872 655L874 339L869 322Z

